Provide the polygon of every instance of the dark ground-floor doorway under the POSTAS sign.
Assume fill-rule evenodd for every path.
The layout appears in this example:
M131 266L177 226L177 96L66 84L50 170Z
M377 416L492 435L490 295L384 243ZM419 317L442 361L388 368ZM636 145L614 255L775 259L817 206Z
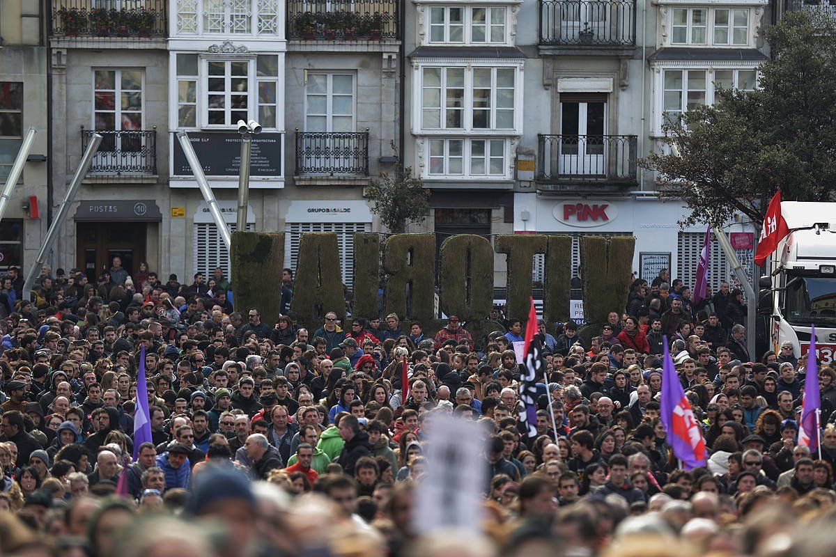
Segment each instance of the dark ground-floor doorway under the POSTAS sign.
M145 261L144 222L79 222L76 224L76 266L94 282L120 256L122 267L133 276Z

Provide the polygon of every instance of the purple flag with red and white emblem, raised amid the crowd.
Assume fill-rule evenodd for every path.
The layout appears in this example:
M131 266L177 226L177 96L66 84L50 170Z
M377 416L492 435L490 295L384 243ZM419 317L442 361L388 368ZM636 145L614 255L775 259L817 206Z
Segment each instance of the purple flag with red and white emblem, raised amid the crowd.
M706 465L706 441L700 424L694 418L691 403L682 390L673 360L668 351L668 339L662 337L662 398L660 418L665 426L667 441L674 455L682 461L682 468L690 470Z

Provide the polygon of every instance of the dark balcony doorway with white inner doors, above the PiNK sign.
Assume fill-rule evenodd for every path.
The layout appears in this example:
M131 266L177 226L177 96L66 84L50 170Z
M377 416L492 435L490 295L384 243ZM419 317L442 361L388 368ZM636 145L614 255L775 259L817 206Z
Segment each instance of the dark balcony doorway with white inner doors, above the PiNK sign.
M607 95L560 95L560 174L604 175Z

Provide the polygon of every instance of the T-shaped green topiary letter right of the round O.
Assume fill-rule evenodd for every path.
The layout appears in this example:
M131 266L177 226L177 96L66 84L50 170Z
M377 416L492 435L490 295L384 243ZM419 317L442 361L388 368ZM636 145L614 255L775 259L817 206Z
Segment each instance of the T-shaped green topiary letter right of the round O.
M522 319L531 306L533 258L546 252L545 235L497 236L497 253L508 254L507 317Z

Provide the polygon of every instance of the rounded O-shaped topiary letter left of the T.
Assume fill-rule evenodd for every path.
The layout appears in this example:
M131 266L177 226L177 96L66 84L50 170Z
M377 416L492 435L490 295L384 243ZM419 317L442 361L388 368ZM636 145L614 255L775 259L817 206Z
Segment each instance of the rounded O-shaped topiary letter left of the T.
M481 336L493 302L493 250L480 235L451 236L441 243L441 311L459 316Z

